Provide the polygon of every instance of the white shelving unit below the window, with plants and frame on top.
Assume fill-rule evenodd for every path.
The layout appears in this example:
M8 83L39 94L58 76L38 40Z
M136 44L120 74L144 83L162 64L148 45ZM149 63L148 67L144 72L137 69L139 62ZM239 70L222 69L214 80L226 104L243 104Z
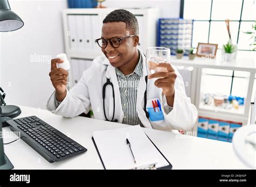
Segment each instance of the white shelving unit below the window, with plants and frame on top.
M183 59L176 59L175 56L171 57L171 64L174 66L193 67L192 75L192 91L191 102L196 105L198 109L198 116L215 118L221 120L237 121L246 125L248 123L248 117L250 112L250 103L253 92L254 77L256 73L256 62L252 58L237 58L232 62L221 62L219 59L205 59L204 57L196 57L194 60L188 60L188 57L184 56ZM247 71L250 73L248 77L248 89L245 96L244 106L239 106L239 109L223 109L221 107L215 107L214 105L204 105L201 102L201 78L203 68L212 69L226 69L226 70L238 70ZM221 84L221 83L220 83ZM217 110L216 110L217 109ZM193 131L197 131L197 125L194 126Z

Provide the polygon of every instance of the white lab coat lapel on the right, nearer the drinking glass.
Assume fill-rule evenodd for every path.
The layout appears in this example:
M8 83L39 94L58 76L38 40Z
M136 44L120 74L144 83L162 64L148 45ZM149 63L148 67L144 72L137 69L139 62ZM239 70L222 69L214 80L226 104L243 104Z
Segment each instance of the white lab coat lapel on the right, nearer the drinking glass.
M140 77L140 80L139 80L136 109L137 109L138 117L140 121L143 123L144 127L152 128L150 121L149 119L147 119L146 113L144 111L144 92L146 90L145 77L147 76L146 57L142 51L139 50L139 52L140 54L142 54L143 76ZM147 93L147 95L149 94Z

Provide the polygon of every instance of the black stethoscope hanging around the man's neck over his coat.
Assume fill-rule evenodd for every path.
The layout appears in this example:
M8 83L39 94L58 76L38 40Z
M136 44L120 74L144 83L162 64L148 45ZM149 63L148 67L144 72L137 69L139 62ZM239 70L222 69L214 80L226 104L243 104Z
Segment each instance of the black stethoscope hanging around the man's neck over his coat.
M146 113L146 117L149 118L149 112L146 111L146 104L147 104L147 76L145 76L145 81L146 81L146 90L144 92L144 111ZM110 85L112 87L112 93L113 93L112 94L113 95L113 116L112 116L111 120L107 119L106 111L105 111L105 92L106 92L106 86L107 85ZM109 78L107 78L106 83L103 85L102 96L103 96L103 110L104 110L105 121L117 122L118 120L114 119L114 110L115 110L115 106L114 106L114 104L115 104L115 100L114 100L114 86L113 86L112 82L110 82Z

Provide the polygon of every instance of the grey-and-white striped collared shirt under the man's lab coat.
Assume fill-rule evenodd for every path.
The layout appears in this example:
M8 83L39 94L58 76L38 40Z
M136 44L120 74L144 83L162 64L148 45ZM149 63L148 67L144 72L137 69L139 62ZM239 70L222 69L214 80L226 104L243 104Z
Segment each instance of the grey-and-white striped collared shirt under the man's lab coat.
M121 96L121 102L124 112L123 124L128 125L140 125L138 113L136 110L137 91L139 85L139 79L143 75L142 55L139 57L139 62L134 69L133 73L124 75L122 71L116 68L117 81L119 85L119 91Z

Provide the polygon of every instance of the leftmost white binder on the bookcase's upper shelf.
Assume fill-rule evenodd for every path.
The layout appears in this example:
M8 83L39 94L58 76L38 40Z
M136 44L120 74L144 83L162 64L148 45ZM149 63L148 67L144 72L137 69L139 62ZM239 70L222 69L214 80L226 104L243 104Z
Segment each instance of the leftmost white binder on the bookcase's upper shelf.
M77 38L77 26L76 26L76 16L68 15L68 23L69 23L69 43L70 49L72 51L78 50L78 38Z

